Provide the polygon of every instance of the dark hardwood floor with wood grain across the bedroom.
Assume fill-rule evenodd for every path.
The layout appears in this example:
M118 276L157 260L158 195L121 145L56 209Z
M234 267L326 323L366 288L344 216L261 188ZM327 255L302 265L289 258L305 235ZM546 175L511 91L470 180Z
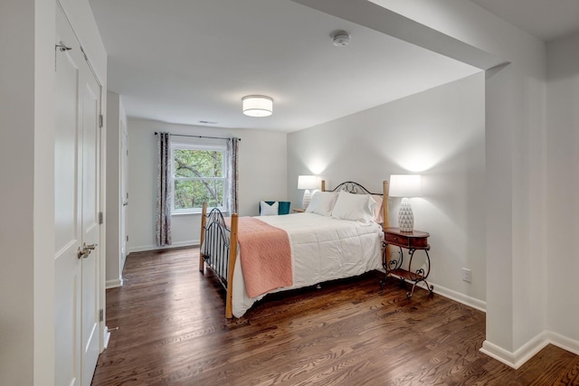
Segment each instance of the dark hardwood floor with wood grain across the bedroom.
M224 317L198 249L132 253L107 291L100 385L577 385L579 356L547 346L517 371L479 353L484 313L377 273L266 297Z

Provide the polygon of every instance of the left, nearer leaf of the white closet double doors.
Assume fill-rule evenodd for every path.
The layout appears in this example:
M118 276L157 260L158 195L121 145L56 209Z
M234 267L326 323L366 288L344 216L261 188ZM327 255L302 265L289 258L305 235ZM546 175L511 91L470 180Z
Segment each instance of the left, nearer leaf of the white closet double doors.
M80 46L57 12L54 133L55 384L81 384L81 122L78 108Z

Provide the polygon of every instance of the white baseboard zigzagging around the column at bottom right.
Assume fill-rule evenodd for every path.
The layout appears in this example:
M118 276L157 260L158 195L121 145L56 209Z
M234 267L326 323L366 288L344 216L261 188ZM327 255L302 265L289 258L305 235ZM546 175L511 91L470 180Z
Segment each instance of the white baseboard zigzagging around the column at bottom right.
M550 331L544 331L541 334L536 335L514 353L499 347L497 344L492 344L489 341L484 341L482 343L480 352L485 353L490 357L495 358L498 362L503 362L517 370L520 366L525 364L525 362L535 356L536 353L543 350L548 344L553 344L569 353L579 355L578 341Z

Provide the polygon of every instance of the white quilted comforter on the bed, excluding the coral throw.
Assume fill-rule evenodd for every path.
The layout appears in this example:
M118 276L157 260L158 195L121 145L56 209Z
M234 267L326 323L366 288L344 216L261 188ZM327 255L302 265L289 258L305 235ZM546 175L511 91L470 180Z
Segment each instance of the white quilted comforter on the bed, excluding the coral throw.
M337 220L315 213L261 216L259 220L289 235L293 286L271 292L308 287L382 268L384 235L382 227L375 222ZM238 252L233 271L233 316L242 316L263 296L247 296Z

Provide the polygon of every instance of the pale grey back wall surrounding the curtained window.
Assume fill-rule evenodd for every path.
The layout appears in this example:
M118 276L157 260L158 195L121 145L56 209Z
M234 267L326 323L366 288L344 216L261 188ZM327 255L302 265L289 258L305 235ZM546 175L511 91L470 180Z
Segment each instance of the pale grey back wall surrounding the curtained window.
M128 118L128 251L157 249L156 131L209 137L239 137L239 214L257 216L261 200L287 200L287 136L285 133L217 127L175 125ZM201 215L179 214L172 219L173 247L199 243Z

